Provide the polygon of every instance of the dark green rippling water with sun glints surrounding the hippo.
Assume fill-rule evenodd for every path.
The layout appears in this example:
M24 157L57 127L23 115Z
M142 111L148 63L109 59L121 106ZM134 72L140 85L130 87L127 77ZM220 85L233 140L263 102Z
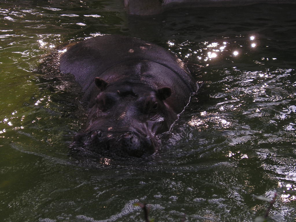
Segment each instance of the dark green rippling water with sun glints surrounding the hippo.
M0 221L296 218L296 7L128 17L121 1L0 1ZM159 44L203 86L152 161L73 160L85 117L71 78L36 72L64 43L123 34ZM198 66L203 66L198 71Z

